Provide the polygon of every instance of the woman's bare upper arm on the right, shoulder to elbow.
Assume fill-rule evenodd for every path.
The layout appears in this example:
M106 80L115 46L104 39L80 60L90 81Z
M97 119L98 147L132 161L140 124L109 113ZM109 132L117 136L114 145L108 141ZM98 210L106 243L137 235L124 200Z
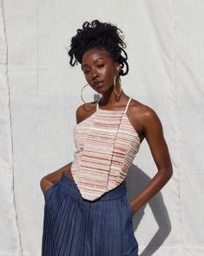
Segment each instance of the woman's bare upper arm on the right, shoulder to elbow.
M172 172L168 145L163 135L161 120L154 110L148 107L144 115L144 133L158 171Z

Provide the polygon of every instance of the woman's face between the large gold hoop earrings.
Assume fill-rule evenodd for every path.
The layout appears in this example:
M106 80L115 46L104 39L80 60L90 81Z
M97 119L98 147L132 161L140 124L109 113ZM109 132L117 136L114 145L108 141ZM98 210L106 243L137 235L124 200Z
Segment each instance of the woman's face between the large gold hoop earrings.
M82 71L88 84L100 93L105 93L113 86L115 74L120 71L105 50L93 48L86 51L82 57Z

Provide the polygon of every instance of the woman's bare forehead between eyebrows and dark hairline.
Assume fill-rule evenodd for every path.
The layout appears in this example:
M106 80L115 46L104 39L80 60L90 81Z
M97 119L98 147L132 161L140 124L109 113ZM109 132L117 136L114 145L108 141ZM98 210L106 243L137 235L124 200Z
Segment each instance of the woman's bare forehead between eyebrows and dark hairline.
M99 58L102 58L102 59L105 59L105 60L109 60L109 61L112 60L111 57L109 56L109 52L108 51L103 50L103 49L93 48L93 49L90 49L90 50L86 51L83 54L82 66L86 65L86 64L89 64L89 63L92 63L92 62L95 62Z

